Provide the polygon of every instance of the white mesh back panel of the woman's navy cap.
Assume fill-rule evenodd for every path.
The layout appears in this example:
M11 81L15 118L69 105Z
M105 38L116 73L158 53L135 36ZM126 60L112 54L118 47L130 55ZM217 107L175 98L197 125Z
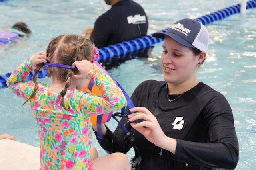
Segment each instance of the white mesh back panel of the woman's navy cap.
M205 51L207 53L209 46L209 34L206 27L202 23L200 24L201 29L192 45L194 45L197 49L200 49L201 51Z

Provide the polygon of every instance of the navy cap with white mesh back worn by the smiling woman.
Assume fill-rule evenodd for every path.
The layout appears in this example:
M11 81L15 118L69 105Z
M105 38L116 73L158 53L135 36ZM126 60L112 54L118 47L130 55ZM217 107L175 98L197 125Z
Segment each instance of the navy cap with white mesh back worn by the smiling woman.
M208 50L209 33L199 21L185 18L172 24L165 33L152 34L156 38L164 38L165 35L186 47L197 48L205 52Z

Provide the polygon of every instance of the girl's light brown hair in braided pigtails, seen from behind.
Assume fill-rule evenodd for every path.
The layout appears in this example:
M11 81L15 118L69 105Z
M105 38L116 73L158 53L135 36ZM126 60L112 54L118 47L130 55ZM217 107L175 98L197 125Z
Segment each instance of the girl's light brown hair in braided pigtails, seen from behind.
M75 61L80 61L83 59L92 61L94 55L93 44L90 39L86 39L76 34L64 34L53 38L50 41L48 47L46 48L46 53L48 55L48 62L65 64L70 66L72 66ZM30 95L28 100L33 98L38 90L37 74L42 67L43 64L40 63L35 69L35 74L32 78L35 83L34 91ZM60 105L65 109L68 109L68 106L64 106L64 96L67 92L67 89L72 84L72 76L77 73L78 70L58 68L52 66L48 67L48 77L52 77L53 81L66 83L65 88L60 92L60 95L62 97Z

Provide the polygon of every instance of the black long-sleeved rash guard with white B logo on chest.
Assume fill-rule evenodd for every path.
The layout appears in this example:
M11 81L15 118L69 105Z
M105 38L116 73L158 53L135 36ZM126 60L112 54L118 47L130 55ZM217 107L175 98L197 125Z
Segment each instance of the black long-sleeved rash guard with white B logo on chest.
M131 129L142 161L140 170L234 169L238 162L238 140L234 119L226 98L200 82L182 94L169 95L166 82L142 82L132 94L135 106L146 107L158 120L168 137L177 140L176 153L156 147ZM126 108L126 113L130 111ZM121 122L125 122L122 119ZM132 145L118 125L105 139L98 139L108 153L130 150Z

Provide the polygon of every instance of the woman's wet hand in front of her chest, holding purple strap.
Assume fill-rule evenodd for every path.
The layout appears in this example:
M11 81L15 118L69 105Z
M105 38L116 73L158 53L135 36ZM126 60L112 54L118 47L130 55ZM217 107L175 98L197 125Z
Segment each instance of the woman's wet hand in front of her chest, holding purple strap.
M145 107L134 107L131 112L136 112L128 115L131 126L140 132L148 141L154 143L158 147L162 147L168 138L160 127L156 117ZM133 123L138 119L144 119L140 123Z

